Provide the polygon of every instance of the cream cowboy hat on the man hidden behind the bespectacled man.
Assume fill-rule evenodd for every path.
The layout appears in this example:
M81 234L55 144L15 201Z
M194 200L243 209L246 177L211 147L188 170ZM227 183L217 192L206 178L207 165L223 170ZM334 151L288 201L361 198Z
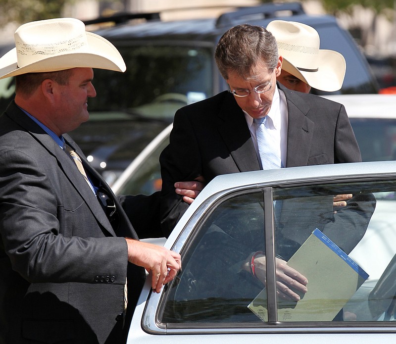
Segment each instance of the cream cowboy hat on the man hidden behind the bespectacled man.
M317 31L294 21L273 20L267 25L283 56L282 69L321 91L338 91L347 68L345 58L334 50L319 49Z

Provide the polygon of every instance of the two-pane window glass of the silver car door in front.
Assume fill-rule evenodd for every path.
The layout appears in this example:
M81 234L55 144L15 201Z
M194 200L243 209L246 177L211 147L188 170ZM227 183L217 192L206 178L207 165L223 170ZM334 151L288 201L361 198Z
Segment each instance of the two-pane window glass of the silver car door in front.
M396 240L394 190L394 182L367 181L274 188L274 201L269 206L274 211L275 262L281 259L292 264L297 251L315 229L342 250L342 254L336 250L329 256L337 257L337 263L331 260L330 268L318 272L319 281L333 283L336 292L329 293L323 285L318 287L318 282L310 277L307 289L316 291L316 299L313 303L306 302L302 310L296 306L299 301L285 303L279 294L276 299L267 295L269 286L244 269L253 252L263 251L265 255L268 248L264 240L263 194L250 191L229 197L207 216L194 239L185 246L183 269L162 298L160 322L265 326L275 316L276 321L284 324L320 321L331 326L335 321L362 321L372 326L378 321L393 320L396 308L393 301L396 246L391 244ZM341 194L351 194L352 198L347 200L347 206L334 206L333 197ZM326 249L330 246L323 247L316 258L326 260L323 257L329 254ZM316 258L305 253L301 258L303 267L320 262L320 259L312 261ZM281 271L278 268L276 271L279 276ZM338 282L334 284L334 281ZM267 274L268 284L276 283L279 287L280 282L275 275ZM254 304L257 296L264 310L255 313L251 305L257 305ZM268 313L271 306L276 307L277 314ZM286 312L286 308L291 310Z

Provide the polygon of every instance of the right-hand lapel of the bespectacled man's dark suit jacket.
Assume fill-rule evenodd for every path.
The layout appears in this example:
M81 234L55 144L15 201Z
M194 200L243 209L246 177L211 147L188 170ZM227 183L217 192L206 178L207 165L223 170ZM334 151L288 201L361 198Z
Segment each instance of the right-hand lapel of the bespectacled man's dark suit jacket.
M288 139L286 167L305 166L308 164L311 141L315 123L306 115L310 107L301 98L278 84L285 93L288 107Z

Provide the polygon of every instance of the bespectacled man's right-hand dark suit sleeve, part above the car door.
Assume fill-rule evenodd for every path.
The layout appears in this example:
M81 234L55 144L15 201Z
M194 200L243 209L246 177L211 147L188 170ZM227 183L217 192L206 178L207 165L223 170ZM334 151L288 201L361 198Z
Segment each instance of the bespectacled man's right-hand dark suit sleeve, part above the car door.
M334 138L334 163L360 162L360 149L344 105L341 105Z

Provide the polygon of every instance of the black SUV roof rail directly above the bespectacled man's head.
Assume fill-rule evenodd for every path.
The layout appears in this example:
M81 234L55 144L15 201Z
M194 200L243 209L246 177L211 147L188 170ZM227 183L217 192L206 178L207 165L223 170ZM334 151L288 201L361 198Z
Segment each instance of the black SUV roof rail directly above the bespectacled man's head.
M289 11L292 15L305 14L300 2L265 3L259 6L238 7L234 12L220 15L216 27L233 26L244 19L276 18L278 12Z

